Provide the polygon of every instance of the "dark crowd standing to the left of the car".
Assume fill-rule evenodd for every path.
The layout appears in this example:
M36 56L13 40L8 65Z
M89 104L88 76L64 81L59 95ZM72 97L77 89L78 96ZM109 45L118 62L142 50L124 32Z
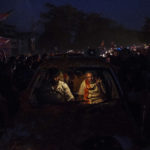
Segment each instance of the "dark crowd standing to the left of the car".
M19 109L18 98L27 87L34 71L47 55L16 56L0 61L0 126L7 123Z

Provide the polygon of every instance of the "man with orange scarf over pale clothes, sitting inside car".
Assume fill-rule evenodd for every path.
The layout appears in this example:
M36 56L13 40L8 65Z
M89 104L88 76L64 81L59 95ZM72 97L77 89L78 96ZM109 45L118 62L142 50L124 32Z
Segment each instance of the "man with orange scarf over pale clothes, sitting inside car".
M92 72L87 72L85 77L78 92L79 99L87 101L88 104L103 102L105 90L102 81L94 79Z

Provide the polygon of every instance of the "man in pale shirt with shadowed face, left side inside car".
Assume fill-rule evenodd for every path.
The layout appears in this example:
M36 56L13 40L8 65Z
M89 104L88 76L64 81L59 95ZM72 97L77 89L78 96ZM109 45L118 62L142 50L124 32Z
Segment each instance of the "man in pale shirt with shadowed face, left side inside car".
M57 69L48 70L46 77L36 90L36 98L39 105L64 103L74 100L69 86L61 81L60 78L60 72Z

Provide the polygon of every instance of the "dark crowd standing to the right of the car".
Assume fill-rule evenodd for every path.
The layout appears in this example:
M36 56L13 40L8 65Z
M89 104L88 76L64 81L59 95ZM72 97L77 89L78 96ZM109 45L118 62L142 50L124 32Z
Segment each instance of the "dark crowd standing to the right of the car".
M149 51L150 52L150 51ZM131 51L121 51L117 56L108 56L117 73L130 110L139 126L150 125L150 53L139 54ZM146 129L146 130L147 130ZM147 130L148 131L148 130ZM148 132L146 133L149 134Z

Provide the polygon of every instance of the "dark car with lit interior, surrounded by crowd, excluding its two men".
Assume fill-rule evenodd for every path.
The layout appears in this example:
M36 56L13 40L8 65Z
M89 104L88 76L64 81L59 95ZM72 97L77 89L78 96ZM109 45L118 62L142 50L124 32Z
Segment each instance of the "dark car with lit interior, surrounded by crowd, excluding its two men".
M54 68L60 71L60 79L69 85L74 101L49 98L47 102L41 96L42 81ZM104 102L88 104L78 99L78 89L87 71L101 78L106 91ZM51 57L36 70L21 94L20 103L20 112L7 141L1 140L5 146L15 144L18 149L36 150L96 150L108 149L110 145L109 149L121 150L131 148L140 138L112 67L98 57Z

